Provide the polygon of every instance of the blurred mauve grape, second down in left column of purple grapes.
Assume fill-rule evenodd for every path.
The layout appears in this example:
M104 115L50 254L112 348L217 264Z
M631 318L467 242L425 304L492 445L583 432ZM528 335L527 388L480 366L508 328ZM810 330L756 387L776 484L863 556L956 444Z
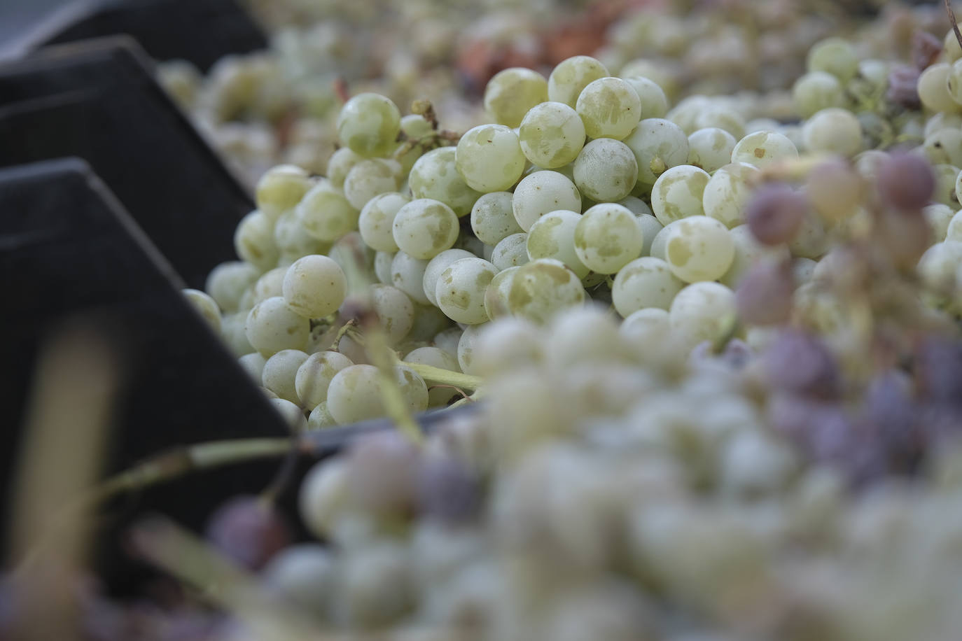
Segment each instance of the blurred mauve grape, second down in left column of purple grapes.
M792 315L795 276L789 261L759 260L735 290L742 320L752 325L777 325Z

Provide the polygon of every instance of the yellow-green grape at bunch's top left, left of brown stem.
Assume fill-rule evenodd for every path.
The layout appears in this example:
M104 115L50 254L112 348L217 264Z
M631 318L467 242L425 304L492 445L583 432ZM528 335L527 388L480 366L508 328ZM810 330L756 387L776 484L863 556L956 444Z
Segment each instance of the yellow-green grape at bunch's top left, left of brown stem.
M387 156L401 131L401 113L389 98L359 93L338 114L338 137L355 154Z

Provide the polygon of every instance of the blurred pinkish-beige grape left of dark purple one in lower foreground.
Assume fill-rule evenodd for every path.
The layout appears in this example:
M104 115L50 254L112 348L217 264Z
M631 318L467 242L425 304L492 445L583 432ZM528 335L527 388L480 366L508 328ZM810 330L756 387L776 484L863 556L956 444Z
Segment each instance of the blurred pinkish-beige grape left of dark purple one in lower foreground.
M407 514L418 492L420 454L397 431L359 438L351 447L348 487L358 505L375 513Z

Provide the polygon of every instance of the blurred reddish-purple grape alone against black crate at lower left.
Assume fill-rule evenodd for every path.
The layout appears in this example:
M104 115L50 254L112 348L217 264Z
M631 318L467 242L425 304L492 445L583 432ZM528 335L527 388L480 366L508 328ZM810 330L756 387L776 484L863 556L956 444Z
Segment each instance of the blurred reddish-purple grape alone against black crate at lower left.
M259 570L291 543L291 529L276 506L256 496L237 496L216 509L207 538L223 555Z

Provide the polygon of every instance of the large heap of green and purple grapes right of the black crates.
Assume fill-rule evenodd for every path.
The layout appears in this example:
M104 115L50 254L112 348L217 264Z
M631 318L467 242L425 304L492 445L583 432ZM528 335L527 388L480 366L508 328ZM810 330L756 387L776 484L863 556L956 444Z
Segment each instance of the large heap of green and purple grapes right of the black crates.
M898 9L736 92L761 62L702 28L722 93L579 55L458 133L357 92L323 176L264 173L186 294L294 438L397 429L302 481L317 542L270 497L212 515L222 610L93 599L95 638L957 638L962 37Z

